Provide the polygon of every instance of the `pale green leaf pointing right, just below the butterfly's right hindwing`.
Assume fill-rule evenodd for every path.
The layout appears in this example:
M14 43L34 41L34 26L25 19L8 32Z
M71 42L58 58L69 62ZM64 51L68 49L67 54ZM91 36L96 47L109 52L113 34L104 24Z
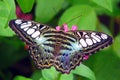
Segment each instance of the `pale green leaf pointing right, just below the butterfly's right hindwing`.
M76 67L76 69L73 70L72 73L86 77L90 80L96 80L94 72L83 64L80 64L79 67Z

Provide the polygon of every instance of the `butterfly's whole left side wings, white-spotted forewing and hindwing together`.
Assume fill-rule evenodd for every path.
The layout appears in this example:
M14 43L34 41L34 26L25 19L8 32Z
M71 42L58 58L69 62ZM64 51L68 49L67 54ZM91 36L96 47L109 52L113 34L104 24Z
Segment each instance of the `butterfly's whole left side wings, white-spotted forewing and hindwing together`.
M52 28L21 19L11 20L9 26L29 46L30 55L38 68L48 68L53 65L53 54L42 45L46 41L42 33Z

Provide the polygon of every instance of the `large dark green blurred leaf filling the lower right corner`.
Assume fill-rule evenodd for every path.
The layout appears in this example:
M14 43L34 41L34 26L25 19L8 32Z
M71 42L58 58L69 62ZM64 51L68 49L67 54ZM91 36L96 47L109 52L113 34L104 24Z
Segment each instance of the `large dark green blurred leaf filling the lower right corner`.
M88 66L94 71L96 80L119 80L120 58L115 55L112 47L101 50L87 60Z

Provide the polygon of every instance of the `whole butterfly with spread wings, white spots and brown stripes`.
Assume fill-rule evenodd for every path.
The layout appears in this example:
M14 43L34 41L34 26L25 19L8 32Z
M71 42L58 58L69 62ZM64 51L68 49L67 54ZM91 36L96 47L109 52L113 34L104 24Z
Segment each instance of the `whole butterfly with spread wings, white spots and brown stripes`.
M86 56L112 44L112 37L102 32L65 32L22 19L11 20L9 26L29 46L30 56L39 69L54 66L62 73L70 73Z

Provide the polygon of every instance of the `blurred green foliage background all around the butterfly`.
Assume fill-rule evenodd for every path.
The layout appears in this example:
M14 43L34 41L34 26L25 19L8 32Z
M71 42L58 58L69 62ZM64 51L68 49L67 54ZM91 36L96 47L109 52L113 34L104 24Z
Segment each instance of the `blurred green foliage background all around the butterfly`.
M114 42L68 75L54 67L38 70L8 26L16 18L53 27L77 25L79 30L105 32ZM0 0L0 80L120 80L120 0Z

